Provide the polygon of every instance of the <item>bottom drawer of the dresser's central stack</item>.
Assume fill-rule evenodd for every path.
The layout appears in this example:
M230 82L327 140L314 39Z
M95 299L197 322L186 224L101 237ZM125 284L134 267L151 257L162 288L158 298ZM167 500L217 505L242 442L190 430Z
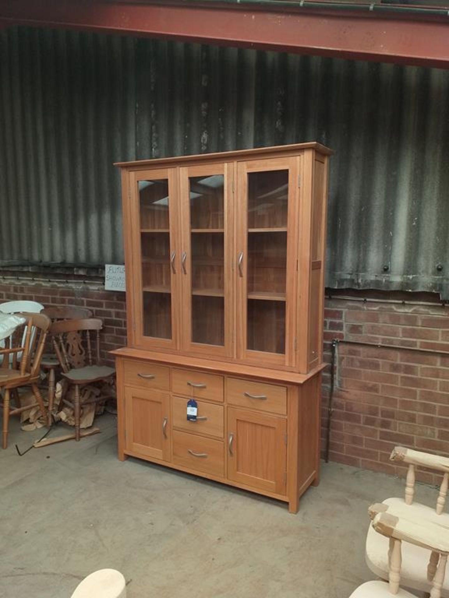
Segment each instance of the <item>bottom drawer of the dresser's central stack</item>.
M225 477L225 444L196 434L173 431L173 463Z

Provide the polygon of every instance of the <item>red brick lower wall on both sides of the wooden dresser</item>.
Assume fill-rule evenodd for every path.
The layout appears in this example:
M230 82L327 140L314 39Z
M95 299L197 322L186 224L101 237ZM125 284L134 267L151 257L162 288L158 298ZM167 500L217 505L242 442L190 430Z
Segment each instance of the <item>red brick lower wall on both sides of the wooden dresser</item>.
M104 322L102 358L126 344L125 293L102 285L0 283L0 301L35 300L44 305L89 307ZM330 361L333 338L389 344L380 349L341 343L336 359L330 460L389 474L404 468L389 462L396 444L449 456L449 308L432 305L326 300L324 347ZM408 350L407 350L408 349ZM330 371L323 374L323 451ZM431 474L421 474L435 481Z

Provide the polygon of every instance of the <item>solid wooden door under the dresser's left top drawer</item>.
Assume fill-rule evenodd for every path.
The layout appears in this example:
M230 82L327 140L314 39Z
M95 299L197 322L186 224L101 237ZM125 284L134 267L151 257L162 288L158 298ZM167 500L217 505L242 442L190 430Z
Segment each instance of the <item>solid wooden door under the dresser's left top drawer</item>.
M126 449L170 460L169 394L125 387Z

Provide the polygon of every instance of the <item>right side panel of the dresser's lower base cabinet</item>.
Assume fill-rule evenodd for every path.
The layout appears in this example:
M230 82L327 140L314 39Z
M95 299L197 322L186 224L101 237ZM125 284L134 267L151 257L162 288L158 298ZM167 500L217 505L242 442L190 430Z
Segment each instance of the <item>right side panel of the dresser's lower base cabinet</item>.
M299 387L298 496L320 475L321 374Z

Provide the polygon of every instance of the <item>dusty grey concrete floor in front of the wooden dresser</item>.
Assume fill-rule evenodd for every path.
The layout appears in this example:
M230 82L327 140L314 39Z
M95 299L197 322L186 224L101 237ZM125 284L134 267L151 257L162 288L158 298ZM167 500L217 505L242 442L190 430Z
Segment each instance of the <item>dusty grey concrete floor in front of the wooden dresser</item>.
M367 508L400 496L402 481L329 463L291 515L262 496L121 463L115 417L96 423L101 434L19 457L14 443L23 450L44 431L12 418L0 449L2 598L68 598L101 568L125 575L128 598L346 598L372 579Z

